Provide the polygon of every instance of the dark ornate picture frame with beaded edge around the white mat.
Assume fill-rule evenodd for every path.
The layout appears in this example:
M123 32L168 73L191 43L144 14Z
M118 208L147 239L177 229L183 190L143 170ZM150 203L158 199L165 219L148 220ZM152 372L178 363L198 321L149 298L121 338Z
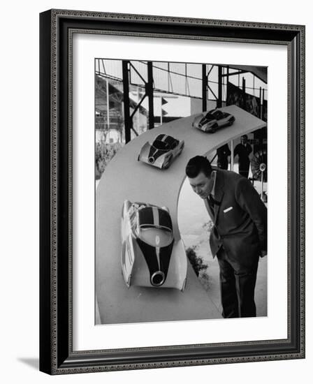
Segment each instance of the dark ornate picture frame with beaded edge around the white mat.
M73 350L73 34L286 45L288 337ZM40 15L40 370L74 374L305 357L305 27L48 10ZM91 255L92 257L92 255Z

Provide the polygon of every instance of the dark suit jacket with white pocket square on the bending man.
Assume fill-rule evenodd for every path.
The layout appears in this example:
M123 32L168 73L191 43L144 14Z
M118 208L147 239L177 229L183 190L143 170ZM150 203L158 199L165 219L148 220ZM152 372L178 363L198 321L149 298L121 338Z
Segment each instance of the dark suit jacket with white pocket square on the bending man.
M220 205L205 206L214 223L210 235L213 257L223 245L228 257L250 265L267 250L267 209L259 193L245 177L217 170L214 199Z

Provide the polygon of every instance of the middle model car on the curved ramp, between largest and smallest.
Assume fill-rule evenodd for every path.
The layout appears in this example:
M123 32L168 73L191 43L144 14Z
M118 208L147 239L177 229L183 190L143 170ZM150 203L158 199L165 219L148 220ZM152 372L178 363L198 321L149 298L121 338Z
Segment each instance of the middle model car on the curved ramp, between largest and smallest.
M140 150L138 161L154 167L166 169L182 153L184 140L177 140L170 135L157 135L152 144L146 142Z

